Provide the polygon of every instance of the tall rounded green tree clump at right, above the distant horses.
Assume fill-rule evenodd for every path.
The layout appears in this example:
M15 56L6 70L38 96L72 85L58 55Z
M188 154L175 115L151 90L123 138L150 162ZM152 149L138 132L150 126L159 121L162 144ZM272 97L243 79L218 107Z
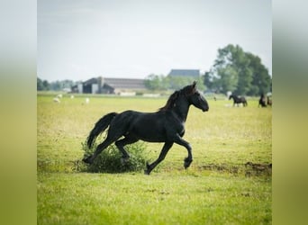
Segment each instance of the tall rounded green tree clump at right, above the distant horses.
M204 85L225 94L258 95L269 91L270 76L258 56L229 44L218 49L213 67L204 74Z

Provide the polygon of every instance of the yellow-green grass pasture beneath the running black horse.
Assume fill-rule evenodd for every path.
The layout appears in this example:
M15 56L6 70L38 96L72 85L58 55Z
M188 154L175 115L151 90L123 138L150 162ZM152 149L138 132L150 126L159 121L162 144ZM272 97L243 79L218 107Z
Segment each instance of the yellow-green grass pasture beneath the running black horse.
M191 106L186 148L174 145L150 175L81 173L82 143L107 112L154 112L167 97L64 94L37 96L38 224L271 224L272 110L206 98L209 112ZM89 97L89 103L86 103ZM152 162L162 143L145 143ZM145 168L145 166L144 166Z

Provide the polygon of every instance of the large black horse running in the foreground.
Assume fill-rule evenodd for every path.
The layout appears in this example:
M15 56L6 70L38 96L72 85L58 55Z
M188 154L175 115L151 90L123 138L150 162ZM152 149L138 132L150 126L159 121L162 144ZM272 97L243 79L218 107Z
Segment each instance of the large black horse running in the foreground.
M107 138L97 146L92 156L84 158L83 161L92 164L95 157L115 141L116 147L122 152L122 161L125 162L130 156L123 147L142 139L149 142L165 142L159 158L151 164L147 163L147 169L144 171L146 175L159 165L174 143L187 149L188 157L184 160L184 166L187 168L193 161L192 148L182 137L191 104L203 112L209 110L209 105L204 96L197 91L195 82L171 94L166 105L158 112L125 111L106 114L95 123L87 138L87 146L91 148L95 138L109 126ZM123 138L120 139L121 137Z

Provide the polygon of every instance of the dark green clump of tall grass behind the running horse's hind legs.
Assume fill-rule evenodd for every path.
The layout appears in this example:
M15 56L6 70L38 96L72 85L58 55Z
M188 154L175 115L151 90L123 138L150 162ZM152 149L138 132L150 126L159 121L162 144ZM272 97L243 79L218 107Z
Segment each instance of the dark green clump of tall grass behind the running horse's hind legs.
M88 148L85 143L81 143L82 149L85 151L85 157L93 154L96 145L93 148ZM99 154L93 164L88 165L78 160L75 162L75 170L79 172L90 173L124 173L140 171L145 168L147 158L145 157L144 150L146 146L143 142L137 142L125 146L125 149L130 154L130 159L126 162L122 162L122 153L114 145L110 145L105 148L104 151Z

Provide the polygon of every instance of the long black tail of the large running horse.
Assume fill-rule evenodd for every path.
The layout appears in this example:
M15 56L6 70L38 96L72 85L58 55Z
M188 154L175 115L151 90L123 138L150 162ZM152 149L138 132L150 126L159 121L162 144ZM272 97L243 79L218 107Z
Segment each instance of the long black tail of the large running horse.
M87 137L86 144L88 148L92 147L93 142L95 141L96 137L106 130L106 128L109 126L110 122L113 121L114 116L116 116L118 113L116 112L110 112L106 115L104 115L99 121L96 121L95 127L93 130L91 130L89 136Z

